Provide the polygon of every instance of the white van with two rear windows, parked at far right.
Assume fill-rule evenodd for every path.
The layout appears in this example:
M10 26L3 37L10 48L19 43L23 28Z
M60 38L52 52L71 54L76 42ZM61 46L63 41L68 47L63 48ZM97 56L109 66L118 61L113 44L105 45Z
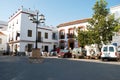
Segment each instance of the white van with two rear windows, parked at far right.
M114 45L103 45L101 49L101 59L119 59L119 53Z

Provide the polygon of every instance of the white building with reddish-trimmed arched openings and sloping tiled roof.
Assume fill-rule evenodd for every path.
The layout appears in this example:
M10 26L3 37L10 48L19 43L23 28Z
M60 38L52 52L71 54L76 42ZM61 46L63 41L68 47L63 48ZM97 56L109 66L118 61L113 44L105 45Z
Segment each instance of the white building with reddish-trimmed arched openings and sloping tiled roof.
M77 30L87 30L89 19L76 20L58 25L59 47L61 49L79 47L78 41L74 38L77 36Z

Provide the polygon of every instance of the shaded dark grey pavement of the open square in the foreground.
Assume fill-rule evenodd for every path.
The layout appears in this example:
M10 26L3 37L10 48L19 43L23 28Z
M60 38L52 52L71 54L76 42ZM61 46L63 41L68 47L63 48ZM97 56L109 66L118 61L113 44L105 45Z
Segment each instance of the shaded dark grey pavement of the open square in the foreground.
M56 57L30 63L24 56L0 56L0 80L120 80L120 65L108 63Z

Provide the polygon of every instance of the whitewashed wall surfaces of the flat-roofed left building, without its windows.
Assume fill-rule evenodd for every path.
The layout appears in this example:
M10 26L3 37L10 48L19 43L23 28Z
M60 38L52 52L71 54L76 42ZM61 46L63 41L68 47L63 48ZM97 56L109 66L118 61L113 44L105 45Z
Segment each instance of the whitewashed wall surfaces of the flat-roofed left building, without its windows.
M13 42L16 39L16 32L20 33L20 38L18 42L13 43L13 46L15 44L18 45L18 51L24 52L25 46L27 44L33 44L33 48L35 47L35 40L36 40L36 24L32 23L32 21L29 20L29 14L36 14L36 12L24 9L23 7L19 9L15 14L13 14L8 23L8 41L9 37L14 38ZM13 25L14 24L14 25ZM47 27L47 26L40 26L41 28L38 28L38 31L41 31L41 37L43 38L43 42L38 42L38 48L42 48L42 46L47 45L49 47L50 51L53 49L53 43L56 43L57 40L52 40L52 32L53 28ZM32 30L32 37L28 37L28 30ZM48 39L45 39L45 32L48 33ZM12 44L10 43L10 46ZM11 50L14 50L14 47L11 48Z

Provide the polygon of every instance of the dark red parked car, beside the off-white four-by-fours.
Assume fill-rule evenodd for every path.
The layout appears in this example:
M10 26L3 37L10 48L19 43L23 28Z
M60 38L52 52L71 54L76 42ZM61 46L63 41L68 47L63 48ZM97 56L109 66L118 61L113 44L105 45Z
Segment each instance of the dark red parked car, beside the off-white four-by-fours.
M60 50L60 52L58 53L58 58L71 58L72 57L72 53L70 53L69 50Z

